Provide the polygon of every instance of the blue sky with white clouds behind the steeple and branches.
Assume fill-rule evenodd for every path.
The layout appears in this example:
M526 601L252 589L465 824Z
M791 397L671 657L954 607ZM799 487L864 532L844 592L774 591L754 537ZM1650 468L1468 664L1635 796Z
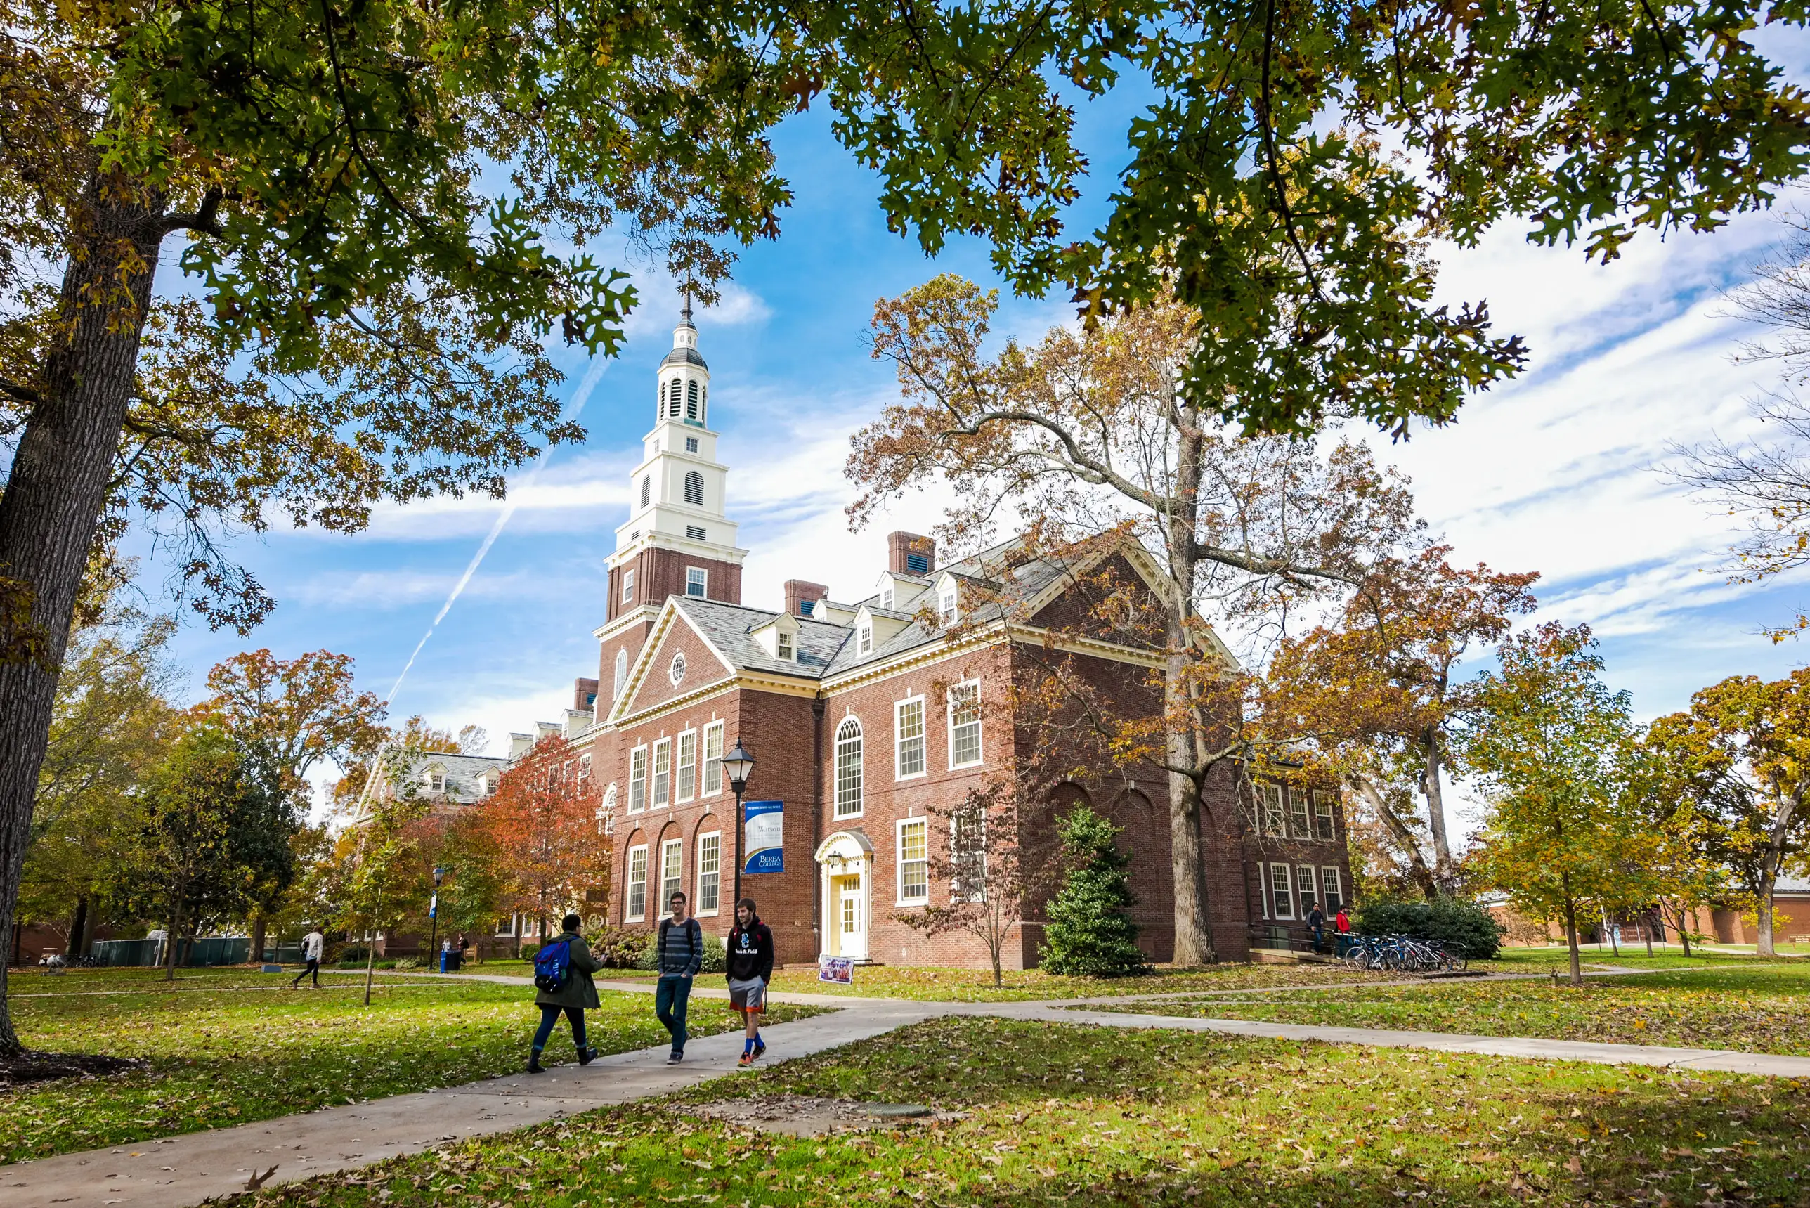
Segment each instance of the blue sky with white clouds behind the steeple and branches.
M1108 176L1128 118L1115 105L1082 112ZM889 529L936 522L936 500L919 496L891 522L847 532L849 435L892 397L862 337L876 297L945 270L994 281L977 244L932 263L889 234L872 177L833 143L825 118L802 114L780 130L780 165L796 188L784 234L748 250L724 302L697 321L729 507L751 551L744 599L757 605L776 607L787 578L854 596L880 570ZM1108 176L1084 206L1099 203ZM1441 292L1488 299L1497 326L1528 339L1533 368L1446 429L1374 438L1414 478L1457 558L1540 570L1542 618L1596 627L1609 679L1633 690L1642 715L1680 708L1723 676L1776 676L1806 657L1756 630L1810 603L1810 585L1725 585L1712 567L1729 520L1651 469L1669 440L1748 431L1745 400L1772 369L1732 362L1754 333L1723 315L1723 290L1779 235L1774 217L1743 216L1716 235L1643 235L1607 268L1577 250L1531 248L1519 232L1452 250ZM597 674L590 634L605 616L605 558L677 313L668 281L639 277L644 306L617 360L588 366L559 351L568 398L601 368L583 409L590 440L556 451L532 484L518 478L509 525L409 670L395 717L483 724L500 753L510 730L561 715L574 677ZM997 330L1035 339L1068 317L1061 302L1006 297ZM387 692L500 509L436 502L384 509L358 536L277 531L243 543L239 556L281 607L252 639L186 625L176 652L190 683L248 647L282 657L329 648L355 656L364 686Z

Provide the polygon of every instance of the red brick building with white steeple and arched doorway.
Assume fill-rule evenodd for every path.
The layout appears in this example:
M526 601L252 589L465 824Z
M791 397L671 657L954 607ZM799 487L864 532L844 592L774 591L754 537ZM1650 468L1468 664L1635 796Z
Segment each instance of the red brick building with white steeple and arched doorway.
M744 605L746 551L726 513L728 471L708 406L710 369L686 313L659 368L655 426L610 558L608 612L595 630L599 672L577 681L563 726L603 793L614 835L606 920L652 927L670 891L684 889L708 929L729 929L740 851L722 753L740 741L757 759L748 799L784 802L775 833L784 869L742 877L782 962L840 954L981 965L977 942L927 940L896 916L950 891L929 875L943 842L930 811L1010 773L1034 741L996 706L1008 699L1015 663L1052 638L1077 569L1015 558L1010 545L939 565L934 542L894 532L883 569L876 549L876 578L853 603L793 580L784 607ZM1144 565L1137 549L1110 556L1128 574ZM1148 686L1158 666L1153 652L1062 641L1091 677L1157 708ZM1124 828L1144 944L1166 960L1166 781L1155 768L1104 772L1057 786L1048 804L1091 801ZM1240 801L1227 768L1205 804L1204 858L1222 958L1243 958L1253 942L1300 938L1309 902L1336 904L1348 893L1334 795L1263 786L1256 801L1249 791ZM1041 817L1046 826L1048 813ZM1035 922L1021 927L1012 967L1037 962L1039 933Z

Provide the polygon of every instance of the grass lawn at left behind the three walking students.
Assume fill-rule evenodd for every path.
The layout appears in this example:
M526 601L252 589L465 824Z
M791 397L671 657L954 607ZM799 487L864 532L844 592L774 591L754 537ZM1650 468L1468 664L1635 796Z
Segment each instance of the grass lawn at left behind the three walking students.
M277 978L194 971L157 991L156 978L129 973L69 973L43 985L11 978L13 1023L27 1047L148 1058L150 1070L0 1090L0 1163L505 1074L527 1061L539 1021L532 989L489 982L380 978L366 1007L362 978L333 978L338 985L322 991L290 991L284 980L268 991L259 987ZM773 1018L807 1014L775 1007ZM603 994L586 1023L603 1052L666 1041L648 994ZM699 1000L690 1027L711 1034L740 1023ZM550 1061L574 1056L565 1021L547 1052Z

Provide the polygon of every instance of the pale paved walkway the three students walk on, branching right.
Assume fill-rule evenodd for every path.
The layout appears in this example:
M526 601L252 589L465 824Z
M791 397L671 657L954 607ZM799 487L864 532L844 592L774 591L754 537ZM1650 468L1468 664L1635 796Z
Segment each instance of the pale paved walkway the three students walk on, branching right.
M472 974L460 974L471 978ZM529 978L483 974L491 982ZM599 982L597 989L652 992L644 982ZM693 998L726 998L700 987ZM836 1011L766 1031L766 1063L805 1058L881 1036L938 1016L994 1016L1050 1023L1176 1029L1296 1041L1479 1052L1540 1061L1595 1061L1691 1070L1727 1070L1768 1078L1810 1078L1810 1058L1710 1049L1604 1045L1566 1040L1457 1036L1365 1027L1195 1020L1120 1011L1088 1011L1099 1000L1017 1003L936 1003L840 994L773 994L775 1002L827 1005ZM1108 1000L1128 1002L1128 1000ZM686 1045L686 1061L666 1065L666 1045L599 1058L588 1067L563 1065L529 1078L510 1074L463 1087L329 1107L237 1128L194 1132L112 1150L65 1154L0 1166L0 1208L74 1204L76 1208L188 1208L214 1195L244 1190L253 1172L275 1166L266 1186L414 1154L443 1141L489 1136L576 1112L632 1103L731 1076L740 1034L706 1036Z

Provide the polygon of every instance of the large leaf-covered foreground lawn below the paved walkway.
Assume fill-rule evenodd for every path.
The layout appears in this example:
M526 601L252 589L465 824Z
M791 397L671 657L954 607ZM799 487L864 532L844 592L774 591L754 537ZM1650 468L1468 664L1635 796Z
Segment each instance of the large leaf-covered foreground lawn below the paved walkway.
M688 1114L773 1092L963 1116L793 1139ZM1801 1083L970 1018L230 1203L1803 1204L1806 1116Z

